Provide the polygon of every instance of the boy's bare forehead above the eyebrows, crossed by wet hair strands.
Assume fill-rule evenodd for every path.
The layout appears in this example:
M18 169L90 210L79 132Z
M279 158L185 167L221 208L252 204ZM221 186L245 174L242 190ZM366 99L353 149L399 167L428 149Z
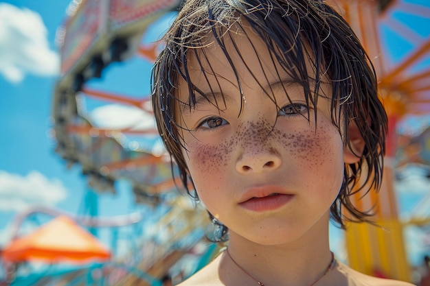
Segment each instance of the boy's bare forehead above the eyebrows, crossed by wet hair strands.
M210 78L222 82L246 84L245 78L261 82L278 80L290 76L297 78L299 73L313 75L313 61L302 51L303 58L297 55L297 47L287 47L288 50L276 47L274 43L265 42L247 25L233 25L220 37L207 34L203 37L202 47L188 49L185 64L185 82L196 86L208 84ZM274 51L278 49L278 51ZM304 47L306 49L306 47ZM285 54L288 53L288 59ZM295 58L292 61L291 58ZM298 61L298 62L297 62ZM302 70L297 71L297 65ZM304 68L304 69L303 69ZM306 78L306 76L305 76Z

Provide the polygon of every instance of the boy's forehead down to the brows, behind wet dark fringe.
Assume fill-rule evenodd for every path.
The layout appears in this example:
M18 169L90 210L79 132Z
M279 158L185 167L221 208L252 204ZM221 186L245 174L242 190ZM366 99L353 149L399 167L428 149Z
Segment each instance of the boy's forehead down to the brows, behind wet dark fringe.
M299 50L294 45L278 47L267 39L246 23L231 26L220 37L204 36L202 47L188 49L185 77L179 79L180 101L193 106L202 95L209 101L214 93L240 99L244 88L272 96L279 83L313 85L315 63L306 43Z

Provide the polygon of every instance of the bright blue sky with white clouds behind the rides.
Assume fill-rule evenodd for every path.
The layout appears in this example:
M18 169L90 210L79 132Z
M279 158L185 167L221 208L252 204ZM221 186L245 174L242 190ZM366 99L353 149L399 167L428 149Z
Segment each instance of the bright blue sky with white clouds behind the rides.
M86 180L79 165L67 169L65 162L54 152L55 143L49 135L52 96L58 76L55 34L65 19L69 2L0 1L0 246L10 239L8 230L16 214L29 206L41 204L72 214L82 213ZM429 6L426 0L409 2ZM8 19L12 17L10 11L16 13L13 25ZM412 18L401 12L397 17L408 21L424 37L430 36L429 18ZM381 32L387 54L394 62L414 49L414 45L399 38L389 27L381 27ZM427 60L424 68L429 65ZM142 96L149 93L149 81L139 81L135 77L142 77L142 73L148 75L149 69L150 64L144 60L131 62L127 67L117 64L102 81L92 84L106 91ZM416 179L409 185L398 187L399 197L405 199L402 200L405 205L401 206L405 213L430 191L422 176L416 173L414 176ZM415 193L403 191L410 189L411 184L415 186ZM135 210L134 198L126 182L117 185L115 195L106 193L99 200L99 213L103 216L123 215Z

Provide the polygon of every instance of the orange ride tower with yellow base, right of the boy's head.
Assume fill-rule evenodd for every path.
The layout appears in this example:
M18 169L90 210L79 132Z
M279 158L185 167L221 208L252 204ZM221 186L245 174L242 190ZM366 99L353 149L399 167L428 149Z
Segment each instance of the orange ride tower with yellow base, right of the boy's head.
M328 0L350 23L354 32L361 39L368 55L373 61L376 73L381 76L385 71L381 56L380 37L378 36L377 19L378 1L371 0ZM411 281L409 265L403 239L403 226L398 218L398 207L394 193L394 149L396 119L404 107L398 94L385 93L384 103L389 114L389 134L387 136L387 154L383 184L376 194L370 191L365 197L357 193L352 200L362 210L374 211L372 224L348 224L346 231L346 248L348 263L351 267L369 275L384 276L403 281Z

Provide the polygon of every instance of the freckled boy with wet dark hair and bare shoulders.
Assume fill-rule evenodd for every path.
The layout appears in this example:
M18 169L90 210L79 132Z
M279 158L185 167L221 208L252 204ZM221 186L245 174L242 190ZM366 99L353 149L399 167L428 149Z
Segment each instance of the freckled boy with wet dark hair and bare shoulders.
M181 285L409 285L328 246L349 196L381 184L387 116L348 24L324 1L189 0L152 76L157 126L227 250ZM189 192L190 193L190 192Z

